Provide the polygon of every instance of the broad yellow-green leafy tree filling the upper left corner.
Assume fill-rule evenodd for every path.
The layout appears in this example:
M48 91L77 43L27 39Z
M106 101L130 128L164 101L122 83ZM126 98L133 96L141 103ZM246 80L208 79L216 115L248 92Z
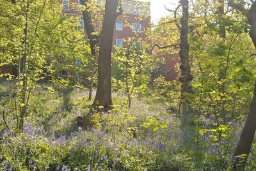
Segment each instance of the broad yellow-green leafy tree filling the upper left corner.
M12 124L15 128L9 126L10 129L22 132L31 113L31 91L40 86L37 82L58 79L63 68L79 71L81 66L74 67L77 60L86 66L88 43L84 33L77 29L77 18L62 14L59 3L0 0L0 4L0 66L13 66L17 70L12 75L0 74L12 82L10 112L6 117L15 123Z

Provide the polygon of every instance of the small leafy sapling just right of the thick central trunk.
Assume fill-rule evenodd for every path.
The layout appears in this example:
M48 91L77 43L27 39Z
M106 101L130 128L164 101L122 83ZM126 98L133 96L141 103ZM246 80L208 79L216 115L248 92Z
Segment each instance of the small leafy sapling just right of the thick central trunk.
M116 48L114 59L114 78L116 88L127 95L127 105L131 108L134 95L139 95L147 88L152 68L152 58L141 49L141 39L136 36L129 40L127 47Z

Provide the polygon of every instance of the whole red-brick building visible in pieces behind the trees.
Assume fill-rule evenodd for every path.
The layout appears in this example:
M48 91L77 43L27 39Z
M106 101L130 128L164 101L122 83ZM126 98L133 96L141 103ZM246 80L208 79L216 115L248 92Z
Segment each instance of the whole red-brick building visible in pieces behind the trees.
M79 16L81 26L78 29L84 28L84 20L79 10L81 5L80 0L60 0L63 5L63 11L68 16ZM98 0L98 3L104 0ZM150 3L141 2L136 0L123 0L122 1L123 15L118 16L116 19L114 34L113 34L113 47L125 47L128 44L136 43L141 47L141 41L146 40L146 31L150 27ZM100 21L96 24L98 31L100 29ZM162 56L166 59L165 73L168 75L168 80L177 78L177 72L172 70L173 66L179 63L179 57ZM1 73L12 73L10 67L0 67Z

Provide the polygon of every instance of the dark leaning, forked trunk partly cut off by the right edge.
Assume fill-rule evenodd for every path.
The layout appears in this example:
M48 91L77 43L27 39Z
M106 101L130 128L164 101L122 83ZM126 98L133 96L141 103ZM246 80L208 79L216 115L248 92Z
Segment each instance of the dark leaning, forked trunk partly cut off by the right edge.
M246 10L240 4L234 3L234 1L228 1L228 4L236 10L241 11L248 18L250 24L250 37L256 48L256 1L253 2L250 10ZM236 147L234 154L234 166L233 170L244 170L250 150L252 148L253 138L256 130L256 82L254 87L253 99L250 107L250 112L244 124L241 137Z

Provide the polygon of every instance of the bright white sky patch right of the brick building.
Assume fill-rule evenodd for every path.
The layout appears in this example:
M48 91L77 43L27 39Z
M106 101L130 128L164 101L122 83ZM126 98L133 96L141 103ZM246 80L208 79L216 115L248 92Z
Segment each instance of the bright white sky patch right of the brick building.
M140 0L140 1L148 1L148 0ZM170 12L166 11L166 8L174 9L175 4L177 4L178 0L150 0L151 2L151 19L152 22L157 23L161 17L168 15Z

